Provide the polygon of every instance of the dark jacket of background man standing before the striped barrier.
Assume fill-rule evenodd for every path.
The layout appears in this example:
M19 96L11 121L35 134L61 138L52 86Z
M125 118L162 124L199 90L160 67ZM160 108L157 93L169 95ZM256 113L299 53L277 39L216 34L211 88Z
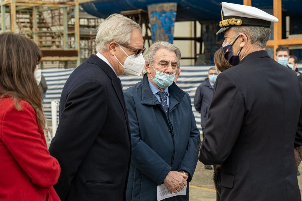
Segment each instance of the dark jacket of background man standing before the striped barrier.
M195 109L201 114L200 124L203 128L207 124L212 97L213 87L210 84L209 78L206 78L204 82L197 87L194 97L194 106Z

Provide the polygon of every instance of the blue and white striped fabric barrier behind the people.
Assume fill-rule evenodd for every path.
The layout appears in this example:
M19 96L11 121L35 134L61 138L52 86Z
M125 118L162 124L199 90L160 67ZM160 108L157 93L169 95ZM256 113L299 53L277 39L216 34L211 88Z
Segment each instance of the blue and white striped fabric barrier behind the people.
M193 113L196 119L196 124L199 130L201 130L200 125L200 114L194 108L194 97L197 87L204 81L207 77L207 71L213 65L207 66L182 66L182 72L177 80L177 85L187 92L191 97L191 104ZM298 68L302 68L302 64L298 64ZM70 69L46 69L42 70L42 74L45 77L48 90L46 92L46 97L44 99L44 113L47 120L51 120L51 101L57 100L59 102L63 86L68 79L69 75L72 73L74 68ZM302 69L301 69L302 70ZM123 90L132 86L133 84L142 80L142 76L131 77L131 76L119 76L122 81ZM57 117L59 117L59 109L57 109Z

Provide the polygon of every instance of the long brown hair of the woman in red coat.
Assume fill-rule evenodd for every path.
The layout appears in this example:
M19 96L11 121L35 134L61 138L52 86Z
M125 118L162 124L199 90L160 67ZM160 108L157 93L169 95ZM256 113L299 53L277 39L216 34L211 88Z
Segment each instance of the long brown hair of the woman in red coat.
M18 111L22 110L20 99L29 102L44 128L43 95L34 77L41 58L41 50L31 39L11 32L0 34L0 94L12 97Z

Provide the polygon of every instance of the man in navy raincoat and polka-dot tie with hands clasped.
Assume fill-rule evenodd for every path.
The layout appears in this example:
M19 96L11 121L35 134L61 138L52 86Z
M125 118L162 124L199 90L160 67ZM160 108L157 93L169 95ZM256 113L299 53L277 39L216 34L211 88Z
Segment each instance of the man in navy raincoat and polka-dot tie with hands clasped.
M186 195L165 200L189 198L200 133L188 93L173 82L179 59L180 50L171 43L153 43L143 80L124 90L132 140L127 201L157 200L161 184L170 193L186 186Z

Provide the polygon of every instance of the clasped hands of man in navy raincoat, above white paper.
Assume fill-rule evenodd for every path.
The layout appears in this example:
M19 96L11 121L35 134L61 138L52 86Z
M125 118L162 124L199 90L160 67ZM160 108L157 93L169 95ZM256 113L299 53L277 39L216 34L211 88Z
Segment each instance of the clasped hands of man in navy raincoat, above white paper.
M164 183L169 188L169 193L177 193L187 185L188 176L182 172L170 171L164 179Z

